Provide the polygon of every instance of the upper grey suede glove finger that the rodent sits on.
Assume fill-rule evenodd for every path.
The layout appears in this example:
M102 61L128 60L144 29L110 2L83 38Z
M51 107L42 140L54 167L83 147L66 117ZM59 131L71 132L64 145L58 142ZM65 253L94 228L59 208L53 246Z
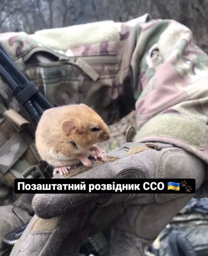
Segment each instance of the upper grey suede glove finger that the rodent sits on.
M121 159L118 156L108 156L107 162L103 163L100 160L96 160L93 164L94 166L97 164L97 166L71 178L155 178L155 169L157 168L159 154L160 152L149 149L140 154L125 155L125 158ZM147 165L149 159L151 159L152 163ZM58 174L54 176L54 178L67 177L68 175L60 177ZM63 212L73 211L75 207L80 204L87 204L89 201L94 201L95 204L103 204L111 195L112 194L36 194L32 204L36 215L40 218L52 218ZM129 195L124 195L124 198L128 197ZM122 201L121 195L119 195L119 201Z

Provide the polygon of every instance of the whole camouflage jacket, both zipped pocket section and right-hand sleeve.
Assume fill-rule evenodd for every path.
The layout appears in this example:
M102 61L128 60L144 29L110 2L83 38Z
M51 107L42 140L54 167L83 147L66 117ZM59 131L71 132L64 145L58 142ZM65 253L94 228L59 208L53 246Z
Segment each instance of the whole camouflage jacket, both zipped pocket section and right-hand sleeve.
M83 102L105 120L136 108L135 140L172 143L208 163L208 56L184 25L146 14L0 41L52 104Z

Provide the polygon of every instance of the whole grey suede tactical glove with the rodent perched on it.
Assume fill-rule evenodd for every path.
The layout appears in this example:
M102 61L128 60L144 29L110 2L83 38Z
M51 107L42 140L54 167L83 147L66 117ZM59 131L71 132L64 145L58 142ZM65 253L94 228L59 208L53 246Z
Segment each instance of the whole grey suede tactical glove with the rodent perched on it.
M74 175L70 177L70 175ZM54 178L194 178L203 162L163 143L126 143L106 163L77 167ZM36 215L15 244L11 256L78 256L87 237L112 227L110 256L143 255L163 228L194 194L36 194Z

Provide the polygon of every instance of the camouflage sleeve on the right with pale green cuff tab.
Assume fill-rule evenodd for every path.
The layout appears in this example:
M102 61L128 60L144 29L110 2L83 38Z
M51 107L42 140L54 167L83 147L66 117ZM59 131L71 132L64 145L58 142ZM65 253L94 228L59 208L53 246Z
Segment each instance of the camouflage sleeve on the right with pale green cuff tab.
M142 24L132 63L135 140L171 143L208 163L208 56L191 31L173 20Z

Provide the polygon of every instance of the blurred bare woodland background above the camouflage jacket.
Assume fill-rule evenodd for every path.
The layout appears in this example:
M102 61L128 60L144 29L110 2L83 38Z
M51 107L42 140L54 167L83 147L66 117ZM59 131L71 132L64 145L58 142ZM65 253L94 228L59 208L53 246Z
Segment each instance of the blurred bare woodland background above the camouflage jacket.
M147 12L189 27L208 53L208 0L0 0L0 30L33 34L93 21L127 21Z

